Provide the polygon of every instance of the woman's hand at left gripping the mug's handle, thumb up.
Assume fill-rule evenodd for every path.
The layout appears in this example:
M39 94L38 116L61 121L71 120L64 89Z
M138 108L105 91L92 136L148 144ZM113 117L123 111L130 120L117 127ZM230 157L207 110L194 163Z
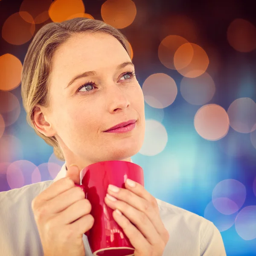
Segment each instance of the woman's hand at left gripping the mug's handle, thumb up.
M79 184L77 166L67 169L66 177L55 181L32 201L44 256L84 256L82 236L91 229L91 204Z

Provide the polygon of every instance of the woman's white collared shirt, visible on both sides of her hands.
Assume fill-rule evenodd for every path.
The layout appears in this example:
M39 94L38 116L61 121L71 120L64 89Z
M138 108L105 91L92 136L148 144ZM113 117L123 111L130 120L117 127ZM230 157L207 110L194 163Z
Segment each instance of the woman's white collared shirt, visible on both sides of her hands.
M0 255L44 256L31 203L53 182L66 175L66 163L54 180L0 192ZM157 198L156 198L157 199ZM157 199L170 238L163 256L226 256L221 234L207 219ZM83 235L86 256L93 256Z

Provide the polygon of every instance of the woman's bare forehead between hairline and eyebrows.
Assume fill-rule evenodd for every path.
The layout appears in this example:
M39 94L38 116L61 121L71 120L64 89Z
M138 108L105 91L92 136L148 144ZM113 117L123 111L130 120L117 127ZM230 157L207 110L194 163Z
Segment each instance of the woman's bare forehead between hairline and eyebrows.
M106 67L129 61L130 57L122 44L112 35L104 32L73 35L59 47L52 59L52 71L62 75L89 70L101 70Z

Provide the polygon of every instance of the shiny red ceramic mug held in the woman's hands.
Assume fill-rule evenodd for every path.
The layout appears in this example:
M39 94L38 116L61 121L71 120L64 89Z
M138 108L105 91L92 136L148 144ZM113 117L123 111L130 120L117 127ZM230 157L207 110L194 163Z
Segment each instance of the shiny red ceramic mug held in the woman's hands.
M91 205L93 227L84 233L94 256L133 256L134 247L122 228L113 219L113 209L104 202L108 185L125 189L127 178L144 186L143 169L127 161L93 163L80 172L81 187Z

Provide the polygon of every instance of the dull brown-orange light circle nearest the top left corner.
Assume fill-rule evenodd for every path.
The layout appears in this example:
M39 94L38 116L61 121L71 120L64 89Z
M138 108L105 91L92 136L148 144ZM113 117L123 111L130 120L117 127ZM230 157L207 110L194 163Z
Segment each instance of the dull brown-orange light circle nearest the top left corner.
M20 16L22 15L22 17ZM26 20L29 22L26 22ZM35 22L27 12L16 12L9 16L3 24L2 37L9 44L25 44L35 32Z

